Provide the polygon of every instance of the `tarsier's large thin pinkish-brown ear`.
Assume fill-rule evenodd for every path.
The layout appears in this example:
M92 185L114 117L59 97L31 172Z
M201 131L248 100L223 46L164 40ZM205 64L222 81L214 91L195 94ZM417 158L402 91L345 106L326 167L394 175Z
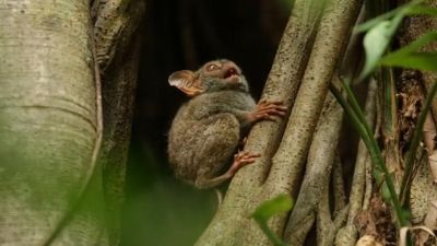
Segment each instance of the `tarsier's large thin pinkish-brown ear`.
M190 70L181 70L172 73L168 77L168 83L172 86L176 86L188 96L194 96L203 92L198 75Z

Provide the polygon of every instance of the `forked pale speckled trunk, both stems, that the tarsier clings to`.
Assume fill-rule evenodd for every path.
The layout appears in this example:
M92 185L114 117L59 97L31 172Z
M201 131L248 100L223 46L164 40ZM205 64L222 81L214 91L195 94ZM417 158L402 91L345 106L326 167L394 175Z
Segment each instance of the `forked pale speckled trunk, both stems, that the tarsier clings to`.
M319 1L295 2L262 96L287 102L291 106L295 101L297 81L303 75L303 69L307 67L281 145L275 153L282 133L281 126L275 122L260 122L253 127L245 149L261 153L262 157L237 173L222 207L197 245L271 244L247 214L265 199L297 191L306 152L328 85L361 5L361 1L330 3L332 5L327 11L316 38L318 45L312 48L307 66L308 49L312 44L323 4ZM271 225L277 234L282 234L285 218L275 218Z

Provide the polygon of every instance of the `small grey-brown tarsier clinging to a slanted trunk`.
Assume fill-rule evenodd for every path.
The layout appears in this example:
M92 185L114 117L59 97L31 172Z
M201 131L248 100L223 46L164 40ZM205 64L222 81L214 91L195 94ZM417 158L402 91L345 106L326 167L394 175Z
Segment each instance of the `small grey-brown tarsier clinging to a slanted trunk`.
M253 163L259 154L234 155L241 139L255 122L274 120L286 112L280 102L257 105L240 68L229 60L206 62L198 71L174 72L168 82L191 97L173 120L169 162L178 178L198 188L217 186Z

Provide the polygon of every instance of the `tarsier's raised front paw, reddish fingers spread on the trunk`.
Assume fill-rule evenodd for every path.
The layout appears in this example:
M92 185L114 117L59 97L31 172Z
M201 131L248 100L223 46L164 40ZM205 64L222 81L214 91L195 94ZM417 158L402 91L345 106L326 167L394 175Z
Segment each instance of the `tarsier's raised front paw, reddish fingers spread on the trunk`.
M274 116L284 117L287 107L283 106L282 102L267 102L260 101L252 113L249 114L249 118L255 122L262 119L273 120Z

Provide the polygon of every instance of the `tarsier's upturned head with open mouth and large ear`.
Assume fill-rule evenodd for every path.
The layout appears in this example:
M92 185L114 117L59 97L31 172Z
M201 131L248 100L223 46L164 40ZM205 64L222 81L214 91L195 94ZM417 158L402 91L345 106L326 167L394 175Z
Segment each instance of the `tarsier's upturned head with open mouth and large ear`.
M178 87L188 96L224 90L248 92L249 86L241 70L229 60L213 60L198 71L181 70L168 77L170 85Z

